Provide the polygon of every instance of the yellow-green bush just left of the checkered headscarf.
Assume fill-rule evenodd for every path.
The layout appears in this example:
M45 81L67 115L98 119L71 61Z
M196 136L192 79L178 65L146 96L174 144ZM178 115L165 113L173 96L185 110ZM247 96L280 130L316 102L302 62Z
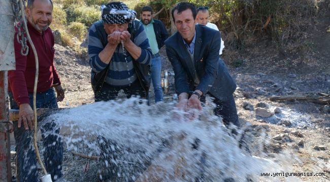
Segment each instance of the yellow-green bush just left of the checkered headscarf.
M71 5L65 10L68 22L81 22L87 27L99 20L101 11L94 7Z

